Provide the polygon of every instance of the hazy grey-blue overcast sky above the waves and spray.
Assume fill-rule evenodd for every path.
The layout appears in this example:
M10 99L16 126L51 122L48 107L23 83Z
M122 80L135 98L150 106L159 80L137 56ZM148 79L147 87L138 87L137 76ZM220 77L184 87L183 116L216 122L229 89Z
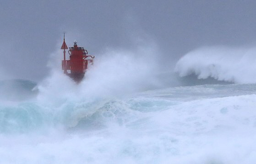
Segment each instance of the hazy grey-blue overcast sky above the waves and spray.
M76 39L95 56L153 42L164 69L171 70L195 48L253 46L256 1L0 0L0 72L43 79L64 31L68 46Z

